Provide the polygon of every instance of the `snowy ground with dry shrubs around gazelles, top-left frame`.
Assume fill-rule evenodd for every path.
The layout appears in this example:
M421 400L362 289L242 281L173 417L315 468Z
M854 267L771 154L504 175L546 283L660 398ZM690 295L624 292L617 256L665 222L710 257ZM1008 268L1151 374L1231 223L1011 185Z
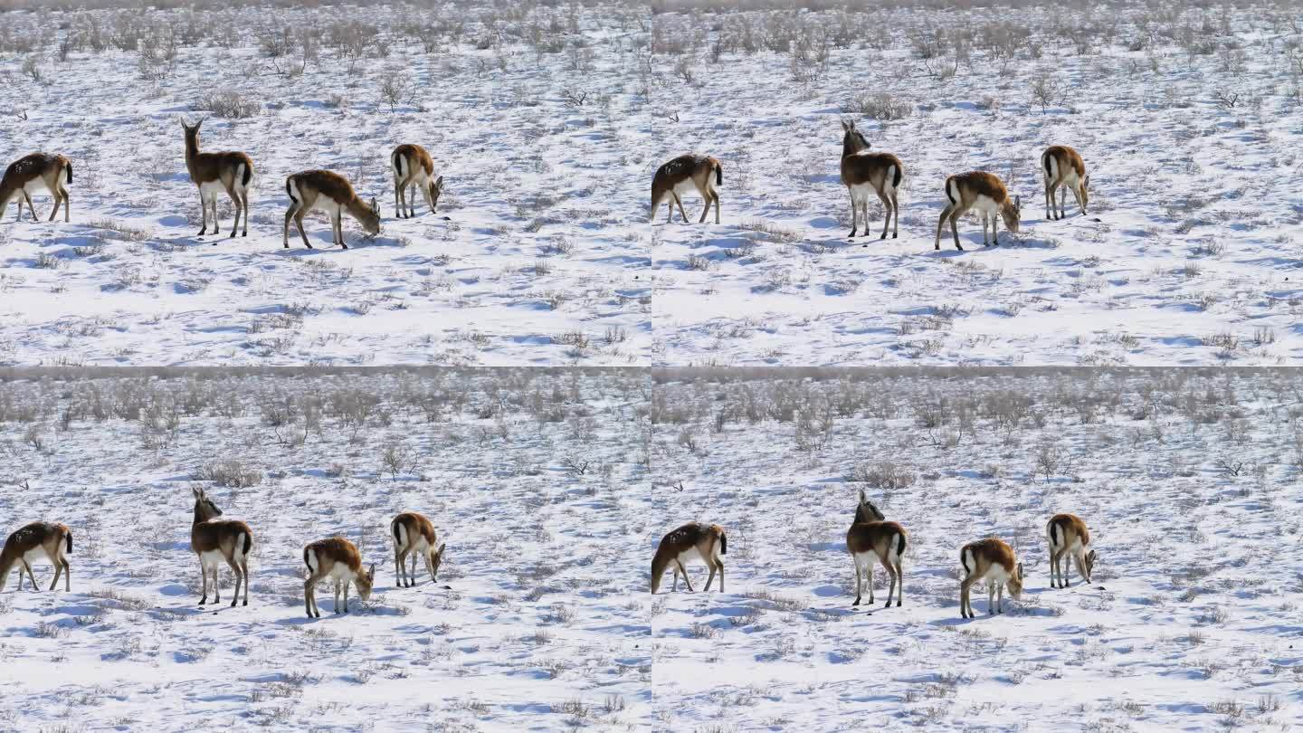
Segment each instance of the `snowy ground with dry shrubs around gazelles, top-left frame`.
M3 13L0 160L57 151L74 176L70 224L0 222L0 364L648 363L646 34L620 13ZM195 236L182 116L253 158L248 239L225 197L223 236ZM438 214L394 218L401 142L444 176ZM380 235L345 217L344 252L311 214L317 249L283 249L285 176L310 168L374 196Z

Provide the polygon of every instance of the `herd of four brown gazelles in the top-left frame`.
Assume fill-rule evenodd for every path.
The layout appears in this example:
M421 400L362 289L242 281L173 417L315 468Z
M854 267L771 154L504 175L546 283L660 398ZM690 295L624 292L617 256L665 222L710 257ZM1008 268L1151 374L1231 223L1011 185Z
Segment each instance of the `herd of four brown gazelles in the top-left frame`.
M185 130L185 168L190 173L190 181L199 189L199 210L202 224L198 236L206 233L222 233L218 220L218 196L225 192L235 205L236 220L231 226L231 236L238 232L249 236L249 183L253 180L253 159L245 153L222 151L203 153L199 150L199 128L203 120L190 125L185 120L181 128ZM412 189L421 192L421 197L430 206L430 213L435 211L439 203L439 194L443 192L443 176L434 175L434 160L420 145L404 143L394 149L390 155L390 167L394 172L394 206L399 218L416 217L416 194ZM18 198L18 220L22 220L22 202L27 202L33 220L36 219L36 210L31 205L31 192L46 189L55 198L55 209L50 214L50 220L55 219L59 206L64 206L64 220L70 220L68 188L65 184L73 180L73 164L63 155L48 153L33 153L13 162L0 179L0 217L9 206L9 200ZM343 214L357 219L367 233L380 231L380 207L373 197L362 201L353 190L353 184L344 176L332 171L302 171L285 179L285 193L289 196L289 209L285 211L285 227L281 232L281 244L289 247L289 223L298 227L298 235L304 245L311 249L308 235L304 232L304 215L309 211L324 211L331 219L331 232L334 243L348 249L344 244ZM212 213L212 231L208 231L208 211ZM241 227L241 217L244 227Z

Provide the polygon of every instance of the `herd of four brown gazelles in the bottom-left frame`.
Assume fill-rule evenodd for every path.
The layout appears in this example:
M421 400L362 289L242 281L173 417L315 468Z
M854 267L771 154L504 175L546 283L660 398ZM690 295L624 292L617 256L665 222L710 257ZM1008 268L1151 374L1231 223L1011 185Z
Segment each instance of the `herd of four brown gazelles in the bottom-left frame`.
M218 592L218 569L222 562L231 567L236 576L236 587L231 606L240 603L240 586L244 584L244 605L249 605L249 553L253 552L253 530L249 524L220 519L222 510L212 502L202 488L194 489L194 522L190 524L190 549L199 560L199 574L203 578L203 592L199 605L208 603L208 579L212 579L212 603L222 603ZM417 560L425 562L425 569L430 573L430 582L438 580L439 565L443 562L443 550L447 546L438 541L434 524L425 516L405 511L394 518L390 523L390 535L394 541L394 567L395 584L400 588L416 586ZM18 590L22 590L22 574L27 573L31 579L31 588L36 587L36 578L31 574L31 562L46 558L55 566L55 580L50 584L53 591L59 584L60 574L64 575L64 590L72 591L72 570L68 565L68 553L73 550L73 533L64 524L50 522L33 522L14 533L4 543L0 550L0 591L4 591L5 580L12 570L18 570ZM407 561L412 560L412 570L408 571ZM335 583L335 613L348 613L348 586L357 587L357 593L366 601L371 596L371 587L375 584L375 563L369 569L362 567L362 554L357 545L344 537L328 537L317 540L304 548L304 565L308 566L308 580L304 583L304 605L308 616L321 618L321 609L317 606L317 583L330 579ZM340 601L343 591L343 603Z

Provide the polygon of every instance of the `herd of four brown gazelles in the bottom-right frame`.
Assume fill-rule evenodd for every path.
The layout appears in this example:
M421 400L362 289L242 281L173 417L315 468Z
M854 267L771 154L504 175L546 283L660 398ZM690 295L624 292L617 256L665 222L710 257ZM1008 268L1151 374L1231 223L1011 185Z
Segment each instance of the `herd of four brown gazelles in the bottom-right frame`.
M1045 526L1045 539L1049 543L1052 588L1068 587L1074 563L1078 575L1087 583L1091 582L1095 549L1091 548L1091 532L1080 516L1055 514ZM860 605L865 575L869 578L869 603L876 603L873 566L881 562L891 578L886 606L891 605L893 595L895 605L900 606L904 600L904 571L900 567L900 558L908 541L904 527L896 522L887 522L861 490L860 502L855 507L855 520L846 532L846 550L855 563L855 603L851 605ZM701 560L710 569L706 590L710 590L710 582L718 573L719 591L723 592L724 563L719 556L727 549L724 530L718 524L691 522L674 530L661 540L652 558L652 592L655 593L661 588L661 578L666 570L674 573L674 591L679 590L679 575L683 575L688 591L692 592L692 582L688 580L688 571L684 567L691 560ZM1014 600L1023 595L1023 563L1018 561L1014 548L1003 540L988 537L968 543L959 550L959 565L963 569L959 583L959 613L964 618L976 616L969 600L969 590L975 583L986 582L986 609L992 614L1005 613L1006 587Z

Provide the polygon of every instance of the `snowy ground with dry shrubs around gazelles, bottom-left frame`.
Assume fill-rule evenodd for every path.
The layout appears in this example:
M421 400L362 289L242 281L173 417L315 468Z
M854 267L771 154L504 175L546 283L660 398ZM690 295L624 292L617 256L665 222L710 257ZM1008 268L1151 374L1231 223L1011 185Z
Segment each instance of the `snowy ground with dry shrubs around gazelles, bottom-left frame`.
M534 369L0 385L0 531L74 537L70 593L0 593L0 730L648 729L649 389ZM192 485L254 530L248 606L197 605ZM438 584L395 587L403 510L447 541ZM334 616L323 584L309 620L302 546L335 533L377 563L374 595Z

